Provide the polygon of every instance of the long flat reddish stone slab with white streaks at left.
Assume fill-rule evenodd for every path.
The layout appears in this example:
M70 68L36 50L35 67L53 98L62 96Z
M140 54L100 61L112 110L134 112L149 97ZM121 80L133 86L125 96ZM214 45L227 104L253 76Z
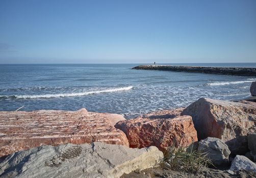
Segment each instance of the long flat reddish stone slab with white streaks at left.
M43 144L100 141L129 146L126 135L114 127L122 115L78 111L38 110L0 112L0 157Z

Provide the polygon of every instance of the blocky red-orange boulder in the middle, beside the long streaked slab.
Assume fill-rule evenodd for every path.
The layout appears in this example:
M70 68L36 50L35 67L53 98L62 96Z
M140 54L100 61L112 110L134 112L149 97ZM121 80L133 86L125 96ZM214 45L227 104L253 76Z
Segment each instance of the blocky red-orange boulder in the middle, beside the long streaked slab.
M197 141L197 135L191 116L181 116L182 110L145 114L132 120L119 121L115 127L126 134L130 147L153 145L162 151L168 150L173 144L185 147Z

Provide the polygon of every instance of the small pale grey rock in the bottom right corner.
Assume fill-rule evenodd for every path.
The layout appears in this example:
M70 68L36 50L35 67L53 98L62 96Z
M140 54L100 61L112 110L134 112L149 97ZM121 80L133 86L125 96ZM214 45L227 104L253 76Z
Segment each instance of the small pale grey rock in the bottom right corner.
M250 170L256 172L256 164L245 156L237 155L232 161L231 167L229 170L240 171L240 170Z

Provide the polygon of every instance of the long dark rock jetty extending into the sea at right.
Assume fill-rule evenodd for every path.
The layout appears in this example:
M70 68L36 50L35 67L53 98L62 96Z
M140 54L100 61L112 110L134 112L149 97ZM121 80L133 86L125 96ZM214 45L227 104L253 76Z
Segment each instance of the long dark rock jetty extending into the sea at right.
M140 65L132 69L196 72L196 73L238 75L238 76L256 76L256 68Z

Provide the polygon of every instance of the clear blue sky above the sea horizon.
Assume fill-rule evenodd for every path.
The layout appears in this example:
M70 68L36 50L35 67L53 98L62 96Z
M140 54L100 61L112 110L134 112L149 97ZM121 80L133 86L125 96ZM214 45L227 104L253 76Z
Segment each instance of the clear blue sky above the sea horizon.
M256 1L0 1L0 64L151 62L256 62Z

